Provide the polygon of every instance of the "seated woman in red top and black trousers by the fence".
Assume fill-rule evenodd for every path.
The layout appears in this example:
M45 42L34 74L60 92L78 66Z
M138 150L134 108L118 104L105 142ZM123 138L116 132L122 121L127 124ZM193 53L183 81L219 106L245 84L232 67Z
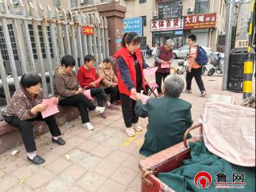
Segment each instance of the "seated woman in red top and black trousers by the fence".
M103 106L103 102L106 102L106 106L110 110L118 110L118 108L112 105L108 99L105 91L99 87L99 83L95 83L98 79L96 70L94 68L94 62L96 59L93 55L87 54L84 59L84 66L81 66L78 70L78 82L82 88L90 90L90 94L97 98L98 106ZM102 118L106 118L106 114L101 114Z

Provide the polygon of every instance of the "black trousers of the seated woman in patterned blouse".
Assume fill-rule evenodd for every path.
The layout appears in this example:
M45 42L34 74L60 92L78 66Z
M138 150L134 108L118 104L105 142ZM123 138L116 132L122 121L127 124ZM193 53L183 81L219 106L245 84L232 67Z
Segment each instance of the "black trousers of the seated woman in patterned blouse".
M50 134L53 137L58 137L62 135L61 131L58 128L58 124L54 115L51 115L47 118L42 118L42 114L39 113L37 118L32 118L24 121L21 121L18 117L14 116L3 116L3 118L8 124L14 126L21 132L22 141L24 143L27 153L31 153L37 150L34 142L33 126L31 122L44 121L49 127Z

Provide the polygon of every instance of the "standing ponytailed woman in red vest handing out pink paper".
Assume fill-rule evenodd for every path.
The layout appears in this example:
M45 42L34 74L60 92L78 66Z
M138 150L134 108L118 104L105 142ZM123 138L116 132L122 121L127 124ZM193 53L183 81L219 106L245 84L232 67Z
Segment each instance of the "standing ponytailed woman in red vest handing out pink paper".
M136 131L141 131L138 126L138 116L134 112L136 101L130 98L145 89L143 69L147 65L142 57L142 51L139 50L140 38L134 32L126 33L122 37L122 48L118 50L114 57L118 62L118 89L122 102L122 116L126 124L126 133L133 137Z

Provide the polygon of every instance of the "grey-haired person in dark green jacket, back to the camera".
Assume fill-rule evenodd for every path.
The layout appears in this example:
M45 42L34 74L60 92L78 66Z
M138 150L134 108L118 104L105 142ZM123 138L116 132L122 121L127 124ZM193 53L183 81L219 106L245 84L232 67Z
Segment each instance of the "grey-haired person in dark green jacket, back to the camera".
M171 74L164 81L164 97L150 98L145 105L138 100L135 113L142 118L149 117L140 154L148 157L182 142L183 134L193 123L191 104L179 98L183 88L182 78Z

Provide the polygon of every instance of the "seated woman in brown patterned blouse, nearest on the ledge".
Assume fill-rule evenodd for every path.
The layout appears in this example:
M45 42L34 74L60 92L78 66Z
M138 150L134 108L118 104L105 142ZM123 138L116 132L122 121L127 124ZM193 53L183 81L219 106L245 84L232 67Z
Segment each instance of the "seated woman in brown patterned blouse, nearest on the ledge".
M2 113L4 120L21 132L27 159L34 164L42 164L45 160L36 152L37 148L34 142L31 122L46 122L52 135L52 141L61 146L65 144L61 138L62 133L58 128L54 115L42 118L41 112L46 110L47 106L42 104L44 95L41 83L42 79L38 74L23 74L20 89L15 91L10 99L9 105ZM58 98L56 98L56 103L58 103Z

